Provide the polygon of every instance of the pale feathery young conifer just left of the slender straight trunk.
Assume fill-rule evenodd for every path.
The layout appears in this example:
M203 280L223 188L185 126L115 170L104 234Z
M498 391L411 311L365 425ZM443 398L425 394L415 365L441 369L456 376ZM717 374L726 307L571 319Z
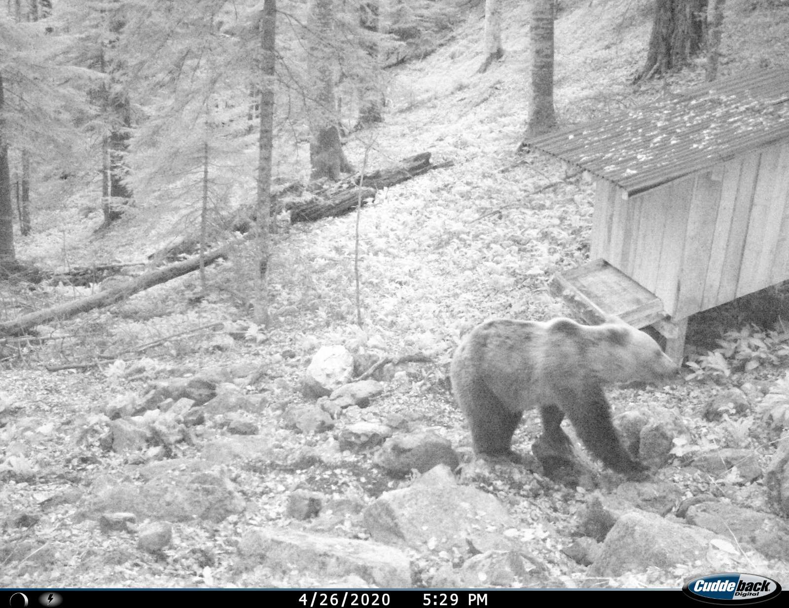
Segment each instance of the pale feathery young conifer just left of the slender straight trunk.
M254 17L219 0L140 6L118 47L140 108L127 182L142 208L176 209L186 225L199 213L204 250L222 231L223 203L254 179L245 61Z

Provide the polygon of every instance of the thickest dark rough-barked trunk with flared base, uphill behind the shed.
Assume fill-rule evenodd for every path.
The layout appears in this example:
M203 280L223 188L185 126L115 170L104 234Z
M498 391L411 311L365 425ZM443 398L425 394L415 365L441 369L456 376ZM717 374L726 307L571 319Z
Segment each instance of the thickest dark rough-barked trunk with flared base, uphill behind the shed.
M707 0L655 0L646 64L635 81L685 66L705 38Z

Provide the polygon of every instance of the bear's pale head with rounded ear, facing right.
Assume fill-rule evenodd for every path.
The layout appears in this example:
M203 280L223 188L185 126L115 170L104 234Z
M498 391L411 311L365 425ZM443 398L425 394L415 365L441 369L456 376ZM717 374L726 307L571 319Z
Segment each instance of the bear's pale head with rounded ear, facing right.
M663 383L679 367L651 337L623 321L595 325L598 377L607 382Z

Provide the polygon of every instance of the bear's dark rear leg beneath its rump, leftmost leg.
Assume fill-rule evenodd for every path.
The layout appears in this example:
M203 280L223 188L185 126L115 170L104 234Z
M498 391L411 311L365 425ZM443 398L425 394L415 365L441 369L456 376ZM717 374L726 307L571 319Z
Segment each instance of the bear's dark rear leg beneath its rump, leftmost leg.
M462 394L460 401L469 419L474 452L507 456L522 412L509 411L481 380L472 381L469 391Z

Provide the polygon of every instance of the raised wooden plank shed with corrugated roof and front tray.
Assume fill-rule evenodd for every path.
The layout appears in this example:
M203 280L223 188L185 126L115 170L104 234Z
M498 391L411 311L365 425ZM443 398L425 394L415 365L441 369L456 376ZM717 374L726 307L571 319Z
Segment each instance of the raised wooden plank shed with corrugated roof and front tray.
M524 142L596 178L589 265L555 277L585 313L653 325L789 279L789 69L705 83Z

